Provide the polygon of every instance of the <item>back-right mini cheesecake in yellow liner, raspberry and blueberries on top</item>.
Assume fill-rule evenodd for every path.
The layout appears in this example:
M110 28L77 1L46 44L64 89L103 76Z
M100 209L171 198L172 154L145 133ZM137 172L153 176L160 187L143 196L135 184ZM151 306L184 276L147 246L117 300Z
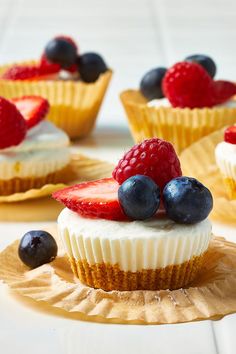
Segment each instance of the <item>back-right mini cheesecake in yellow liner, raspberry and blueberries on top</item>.
M170 69L144 75L140 90L121 93L136 142L160 137L180 153L205 135L235 122L236 85L214 81L216 66L207 56L191 56Z

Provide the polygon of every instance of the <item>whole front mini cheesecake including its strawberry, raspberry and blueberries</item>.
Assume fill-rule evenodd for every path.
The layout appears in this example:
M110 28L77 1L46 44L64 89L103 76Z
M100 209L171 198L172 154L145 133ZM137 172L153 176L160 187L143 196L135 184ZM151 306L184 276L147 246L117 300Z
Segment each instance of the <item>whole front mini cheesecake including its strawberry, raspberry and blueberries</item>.
M150 139L125 154L113 178L53 194L58 229L79 280L111 290L186 287L207 254L212 196L181 176L173 146ZM164 207L162 206L164 205Z

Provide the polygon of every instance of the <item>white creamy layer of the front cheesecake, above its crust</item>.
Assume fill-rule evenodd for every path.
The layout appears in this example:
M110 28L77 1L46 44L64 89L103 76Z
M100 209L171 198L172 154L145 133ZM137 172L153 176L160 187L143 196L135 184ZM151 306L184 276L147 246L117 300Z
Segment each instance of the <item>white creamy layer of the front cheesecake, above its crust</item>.
M184 263L203 254L211 238L208 219L194 225L167 218L121 222L83 218L67 208L58 229L69 257L132 272Z

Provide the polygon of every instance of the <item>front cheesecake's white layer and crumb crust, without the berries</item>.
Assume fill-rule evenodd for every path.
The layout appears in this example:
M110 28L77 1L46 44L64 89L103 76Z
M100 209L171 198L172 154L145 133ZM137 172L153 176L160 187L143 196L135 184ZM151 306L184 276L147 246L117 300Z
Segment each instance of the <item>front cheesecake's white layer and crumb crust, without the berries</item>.
M208 219L193 225L166 217L112 221L67 208L58 229L74 274L106 291L184 287L196 277L211 239Z

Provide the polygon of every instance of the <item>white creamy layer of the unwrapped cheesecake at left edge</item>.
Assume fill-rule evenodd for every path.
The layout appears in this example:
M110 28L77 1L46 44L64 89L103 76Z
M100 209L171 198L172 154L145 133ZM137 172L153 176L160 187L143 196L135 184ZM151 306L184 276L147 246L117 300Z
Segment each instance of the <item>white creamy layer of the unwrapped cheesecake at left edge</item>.
M28 130L21 144L0 150L0 179L41 177L70 162L69 138L52 123L42 121Z

